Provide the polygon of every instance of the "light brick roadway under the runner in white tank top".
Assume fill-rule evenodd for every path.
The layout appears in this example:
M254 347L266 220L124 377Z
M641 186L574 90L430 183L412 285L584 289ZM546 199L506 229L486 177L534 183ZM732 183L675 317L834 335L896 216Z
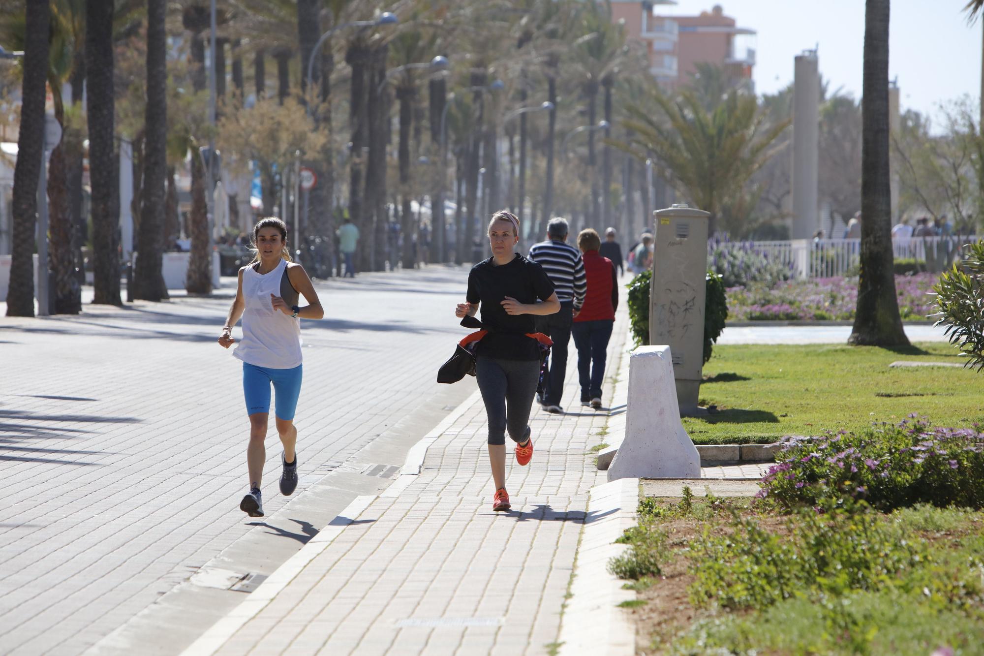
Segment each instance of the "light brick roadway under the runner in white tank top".
M327 318L303 327L298 493L446 393L434 379L461 335L451 308L465 276L431 267L319 285ZM215 344L232 294L0 320L0 652L81 653L237 540L270 532L238 508L241 364ZM270 518L288 500L273 426L267 448ZM269 540L307 540L286 537ZM200 632L225 611L185 623Z

